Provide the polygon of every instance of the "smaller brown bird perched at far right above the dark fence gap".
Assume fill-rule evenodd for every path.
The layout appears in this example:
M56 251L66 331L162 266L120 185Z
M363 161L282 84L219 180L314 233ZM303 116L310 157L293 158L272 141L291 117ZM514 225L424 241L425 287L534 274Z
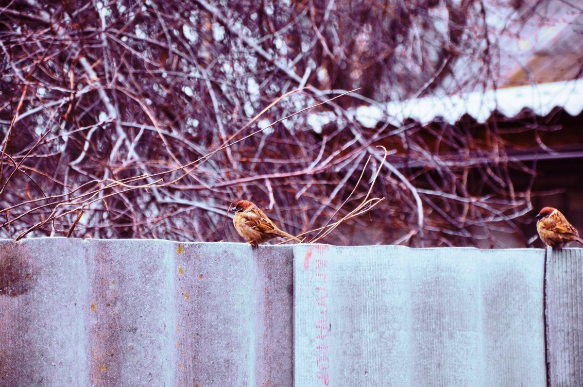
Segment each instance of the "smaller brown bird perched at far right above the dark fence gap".
M568 242L577 241L583 245L577 228L571 226L565 216L556 208L545 207L536 216L536 231L540 239L552 248L562 248Z

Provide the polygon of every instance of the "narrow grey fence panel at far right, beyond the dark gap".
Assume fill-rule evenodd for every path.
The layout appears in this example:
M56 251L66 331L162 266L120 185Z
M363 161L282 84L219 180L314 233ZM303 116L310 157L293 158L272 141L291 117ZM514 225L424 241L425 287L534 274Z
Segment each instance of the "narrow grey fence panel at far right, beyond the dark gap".
M550 385L581 386L583 249L549 249L546 293Z

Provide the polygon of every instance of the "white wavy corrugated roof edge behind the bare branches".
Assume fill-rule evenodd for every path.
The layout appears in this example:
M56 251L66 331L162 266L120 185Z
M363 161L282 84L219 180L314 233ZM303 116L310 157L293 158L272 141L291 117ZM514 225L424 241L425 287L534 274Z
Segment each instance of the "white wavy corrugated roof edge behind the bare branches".
M461 96L416 98L385 105L362 105L356 109L355 118L367 128L372 128L380 121L399 126L406 119L413 119L423 125L437 120L455 124L465 114L483 123L494 111L511 118L529 109L536 115L545 116L555 107L563 108L571 115L580 114L583 110L583 79L487 90Z

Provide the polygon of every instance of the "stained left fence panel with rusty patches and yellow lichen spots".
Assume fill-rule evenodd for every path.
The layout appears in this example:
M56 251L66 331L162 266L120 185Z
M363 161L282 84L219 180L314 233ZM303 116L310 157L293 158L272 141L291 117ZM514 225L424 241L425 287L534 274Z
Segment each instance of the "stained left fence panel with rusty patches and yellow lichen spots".
M289 386L292 248L0 241L0 385Z

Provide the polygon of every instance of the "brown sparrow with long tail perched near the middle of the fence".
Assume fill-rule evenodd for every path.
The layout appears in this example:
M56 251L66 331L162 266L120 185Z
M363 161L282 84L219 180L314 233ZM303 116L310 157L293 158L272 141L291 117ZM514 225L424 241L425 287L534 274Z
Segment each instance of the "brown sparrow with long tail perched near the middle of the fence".
M275 237L291 238L301 242L293 235L280 230L259 207L248 200L239 200L231 211L235 212L233 224L237 233L245 238L252 248Z

